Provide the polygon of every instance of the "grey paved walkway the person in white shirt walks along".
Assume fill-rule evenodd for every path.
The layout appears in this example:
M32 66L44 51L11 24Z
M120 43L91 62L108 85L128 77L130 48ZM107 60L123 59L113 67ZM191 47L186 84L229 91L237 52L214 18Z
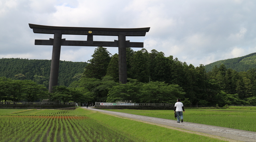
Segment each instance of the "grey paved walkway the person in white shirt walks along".
M83 107L83 108L86 108L86 107ZM214 138L220 138L222 140L228 140L230 142L239 142L239 141L256 142L256 132L251 132L251 131L218 127L218 126L210 126L210 125L190 123L190 122L177 123L176 120L141 116L136 114L122 113L122 112L113 112L113 111L96 109L92 107L89 107L87 109L99 111L107 114L112 114L116 116L122 116L125 118L140 120L142 122L148 122L151 124L156 124L156 125L164 126L167 128L176 129L176 130L177 128L178 130L181 130L181 131L184 131L184 129L186 129L186 130L189 130L187 132L190 132L190 133L196 132L196 134L210 136Z

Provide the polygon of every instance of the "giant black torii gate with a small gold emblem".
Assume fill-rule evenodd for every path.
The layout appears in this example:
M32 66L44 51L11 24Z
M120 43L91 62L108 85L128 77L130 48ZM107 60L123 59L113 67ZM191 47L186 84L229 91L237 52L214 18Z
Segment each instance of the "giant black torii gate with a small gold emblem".
M49 40L35 39L35 45L53 45L52 63L50 71L49 92L58 85L58 72L60 64L60 47L64 46L102 46L118 47L119 82L127 83L126 47L142 47L143 42L126 41L126 36L146 36L148 28L87 28L87 27L57 27L29 24L34 33L54 34ZM86 41L62 39L62 35L87 35ZM118 36L114 41L93 41L93 36Z

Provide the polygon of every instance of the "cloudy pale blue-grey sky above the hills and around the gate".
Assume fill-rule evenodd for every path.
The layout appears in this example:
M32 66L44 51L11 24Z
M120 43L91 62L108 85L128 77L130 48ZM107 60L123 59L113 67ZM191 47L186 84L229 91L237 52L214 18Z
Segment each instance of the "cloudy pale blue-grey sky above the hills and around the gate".
M255 0L0 0L0 58L51 59L52 46L34 45L28 24L47 26L144 28L144 48L199 66L256 52ZM66 40L86 36L63 35ZM94 36L95 41L117 37ZM91 59L96 47L62 46L60 59ZM107 48L112 55L117 47ZM134 51L141 48L133 48Z

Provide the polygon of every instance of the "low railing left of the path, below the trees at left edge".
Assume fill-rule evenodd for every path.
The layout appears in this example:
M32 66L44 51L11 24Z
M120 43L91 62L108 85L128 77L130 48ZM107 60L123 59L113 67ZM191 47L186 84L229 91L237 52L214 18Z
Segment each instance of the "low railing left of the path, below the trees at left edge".
M0 102L6 105L76 105L76 103L55 103L55 102Z

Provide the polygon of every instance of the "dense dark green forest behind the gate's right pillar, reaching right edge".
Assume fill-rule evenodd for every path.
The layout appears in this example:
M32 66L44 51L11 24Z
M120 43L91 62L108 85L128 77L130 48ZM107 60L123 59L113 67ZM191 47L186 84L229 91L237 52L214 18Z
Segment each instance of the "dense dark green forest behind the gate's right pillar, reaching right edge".
M48 99L175 103L180 98L186 106L256 105L255 68L238 72L221 64L206 72L204 65L187 65L173 56L165 57L163 52L155 49L148 52L146 49L133 51L127 48L126 56L128 83L118 82L118 54L111 55L106 48L98 47L80 79L72 81L69 86L56 86L53 93L48 93ZM8 81L15 84L16 80L2 78L2 81L7 81L2 83L4 85ZM11 87L9 91L2 91L2 100L8 96L14 100L10 90ZM26 92L20 94L20 100L28 100L22 95Z

